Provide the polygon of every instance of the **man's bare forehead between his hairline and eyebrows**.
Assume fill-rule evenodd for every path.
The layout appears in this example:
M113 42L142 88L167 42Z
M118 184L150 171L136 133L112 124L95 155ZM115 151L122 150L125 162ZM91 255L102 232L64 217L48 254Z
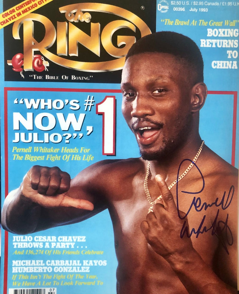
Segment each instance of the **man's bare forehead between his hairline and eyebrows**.
M121 83L135 80L144 82L157 79L179 81L182 72L186 75L186 66L182 59L168 53L147 52L130 56L122 71Z

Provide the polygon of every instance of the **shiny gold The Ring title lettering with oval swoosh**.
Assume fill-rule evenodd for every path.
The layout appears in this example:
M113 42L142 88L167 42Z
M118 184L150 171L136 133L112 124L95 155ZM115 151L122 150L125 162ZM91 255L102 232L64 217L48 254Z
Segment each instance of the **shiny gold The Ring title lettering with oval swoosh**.
M33 70L32 62L35 51L40 51L48 60L70 69L85 72L122 69L125 55L136 41L134 36L136 28L140 31L141 37L151 33L145 22L134 13L109 4L71 4L60 7L59 11L65 13L67 21L57 22L56 28L47 17L36 13L30 13L14 23L13 38L15 39L20 39L19 29L23 25L23 69L25 71ZM95 15L95 13L108 13L118 19L111 20L107 24L104 22L102 27L99 21L94 22L93 14ZM34 23L36 22L43 24L45 28L45 35L40 41L34 38ZM81 30L79 28L81 25L84 25L84 28L90 33L87 34ZM130 33L125 35L119 33L114 42L113 35L115 36L117 31L122 28L126 28ZM53 44L55 44L53 48L56 48L54 49L56 54L48 50ZM78 52L79 44L93 52L94 56L98 56L100 61L84 60L84 56ZM100 48L102 47L108 55L107 58L104 57L105 60L101 58ZM74 60L70 59L71 56L74 57ZM75 56L77 56L77 60Z

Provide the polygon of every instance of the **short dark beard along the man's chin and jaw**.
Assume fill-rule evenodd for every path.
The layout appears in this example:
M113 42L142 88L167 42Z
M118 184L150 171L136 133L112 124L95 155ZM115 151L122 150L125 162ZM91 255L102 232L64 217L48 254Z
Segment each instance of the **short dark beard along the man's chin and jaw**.
M183 126L181 123L178 123L178 125L181 125L178 133L168 140L162 140L158 150L147 151L147 149L140 148L140 155L143 160L164 161L167 160L168 157L171 157L172 154L174 154L174 152L176 152L187 141L188 135L192 129L192 120L192 114L190 113L187 117L185 117Z

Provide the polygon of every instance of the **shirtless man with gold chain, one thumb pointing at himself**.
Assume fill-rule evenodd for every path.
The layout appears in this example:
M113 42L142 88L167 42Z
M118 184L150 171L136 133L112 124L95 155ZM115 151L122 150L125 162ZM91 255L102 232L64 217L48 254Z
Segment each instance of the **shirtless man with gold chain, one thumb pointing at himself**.
M140 39L121 89L142 157L95 163L71 181L33 166L5 200L3 227L32 233L108 208L118 294L236 293L238 174L199 135L207 89L198 47L172 32Z

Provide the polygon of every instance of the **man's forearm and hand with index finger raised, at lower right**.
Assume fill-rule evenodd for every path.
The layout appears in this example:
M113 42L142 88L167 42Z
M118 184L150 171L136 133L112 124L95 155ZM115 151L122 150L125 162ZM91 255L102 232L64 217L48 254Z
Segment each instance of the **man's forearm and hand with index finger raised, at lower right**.
M180 219L178 217L174 198L168 190L166 183L161 177L157 177L156 180L163 196L164 205L156 204L153 208L154 212L149 213L146 221L141 224L141 230L149 245L169 263L188 293L237 293L235 288L224 283L215 274L213 269L206 264L200 254L194 249L189 237L184 236L180 239L180 231L185 221L186 226L188 226L187 218ZM183 212L180 212L180 214L183 216ZM231 260L236 260L236 251L231 250L230 254L233 255ZM232 273L233 270L230 267L233 266L227 264L226 270ZM236 271L236 268L234 270ZM221 274L223 275L223 273Z

